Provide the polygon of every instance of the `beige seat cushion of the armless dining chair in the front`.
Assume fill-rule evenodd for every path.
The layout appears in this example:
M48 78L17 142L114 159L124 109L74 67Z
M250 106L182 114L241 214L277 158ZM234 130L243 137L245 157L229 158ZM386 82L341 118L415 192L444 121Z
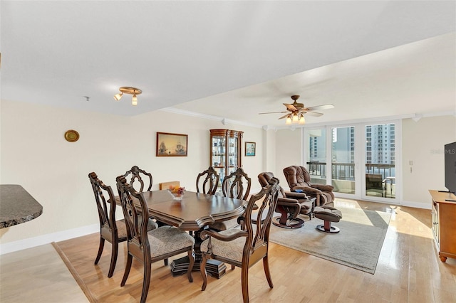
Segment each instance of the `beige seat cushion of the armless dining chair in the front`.
M192 235L183 232L179 228L168 225L150 230L147 233L147 237L149 238L150 255L152 258L195 244L195 238ZM172 239L172 241L165 241L165 239Z

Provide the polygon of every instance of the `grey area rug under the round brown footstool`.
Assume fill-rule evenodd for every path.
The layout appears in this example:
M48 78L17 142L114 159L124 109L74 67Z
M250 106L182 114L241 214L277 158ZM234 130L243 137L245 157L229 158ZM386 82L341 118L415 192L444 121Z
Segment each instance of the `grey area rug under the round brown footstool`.
M296 229L271 225L269 240L373 274L390 223L390 213L359 208L338 209L343 218L333 225L341 229L339 233L323 233L316 229L323 220L308 218L303 227Z

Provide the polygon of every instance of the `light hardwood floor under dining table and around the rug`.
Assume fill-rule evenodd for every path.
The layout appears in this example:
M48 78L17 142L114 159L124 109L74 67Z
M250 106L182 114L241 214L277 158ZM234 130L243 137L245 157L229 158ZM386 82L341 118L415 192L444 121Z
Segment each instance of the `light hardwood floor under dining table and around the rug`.
M251 302L456 302L456 260L448 258L443 263L437 257L430 231L430 210L343 199L337 199L335 206L392 213L375 274L272 243L269 264L274 289L269 289L261 262L254 265L249 271ZM142 287L139 262L133 262L126 285L120 287L125 243L120 245L118 264L110 279L106 277L109 243L99 264L93 265L98 234L62 241L56 243L56 248L68 258L76 277L81 278L91 302L139 301ZM40 258L36 262L41 262ZM24 281L24 277L14 272L9 275L11 279ZM242 302L240 277L239 268L227 269L227 275L219 280L209 277L207 289L202 292L199 272L193 272L194 282L190 283L185 275L172 277L169 267L156 262L152 265L147 302ZM26 284L29 288L37 287L31 281ZM66 288L62 287L61 292L65 293Z

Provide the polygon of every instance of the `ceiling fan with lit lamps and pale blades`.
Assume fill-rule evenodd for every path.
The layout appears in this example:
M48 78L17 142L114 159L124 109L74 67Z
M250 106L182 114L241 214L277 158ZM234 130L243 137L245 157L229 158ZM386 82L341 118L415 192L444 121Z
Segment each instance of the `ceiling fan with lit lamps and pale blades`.
M329 110L331 108L334 108L334 105L332 104L304 107L303 103L296 102L296 100L299 99L299 95L292 95L291 99L294 100L293 103L284 103L286 106L286 112L260 112L259 115L286 113L286 115L279 117L279 119L286 118L286 124L304 124L306 122L304 119L304 114L320 117L323 114L321 114L321 112L314 112L314 110Z

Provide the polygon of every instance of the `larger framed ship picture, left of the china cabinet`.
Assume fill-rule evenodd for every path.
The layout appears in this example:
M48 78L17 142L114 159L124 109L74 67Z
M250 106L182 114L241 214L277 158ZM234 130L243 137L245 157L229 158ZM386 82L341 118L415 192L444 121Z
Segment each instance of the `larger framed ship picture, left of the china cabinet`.
M157 132L156 156L187 156L187 134Z

